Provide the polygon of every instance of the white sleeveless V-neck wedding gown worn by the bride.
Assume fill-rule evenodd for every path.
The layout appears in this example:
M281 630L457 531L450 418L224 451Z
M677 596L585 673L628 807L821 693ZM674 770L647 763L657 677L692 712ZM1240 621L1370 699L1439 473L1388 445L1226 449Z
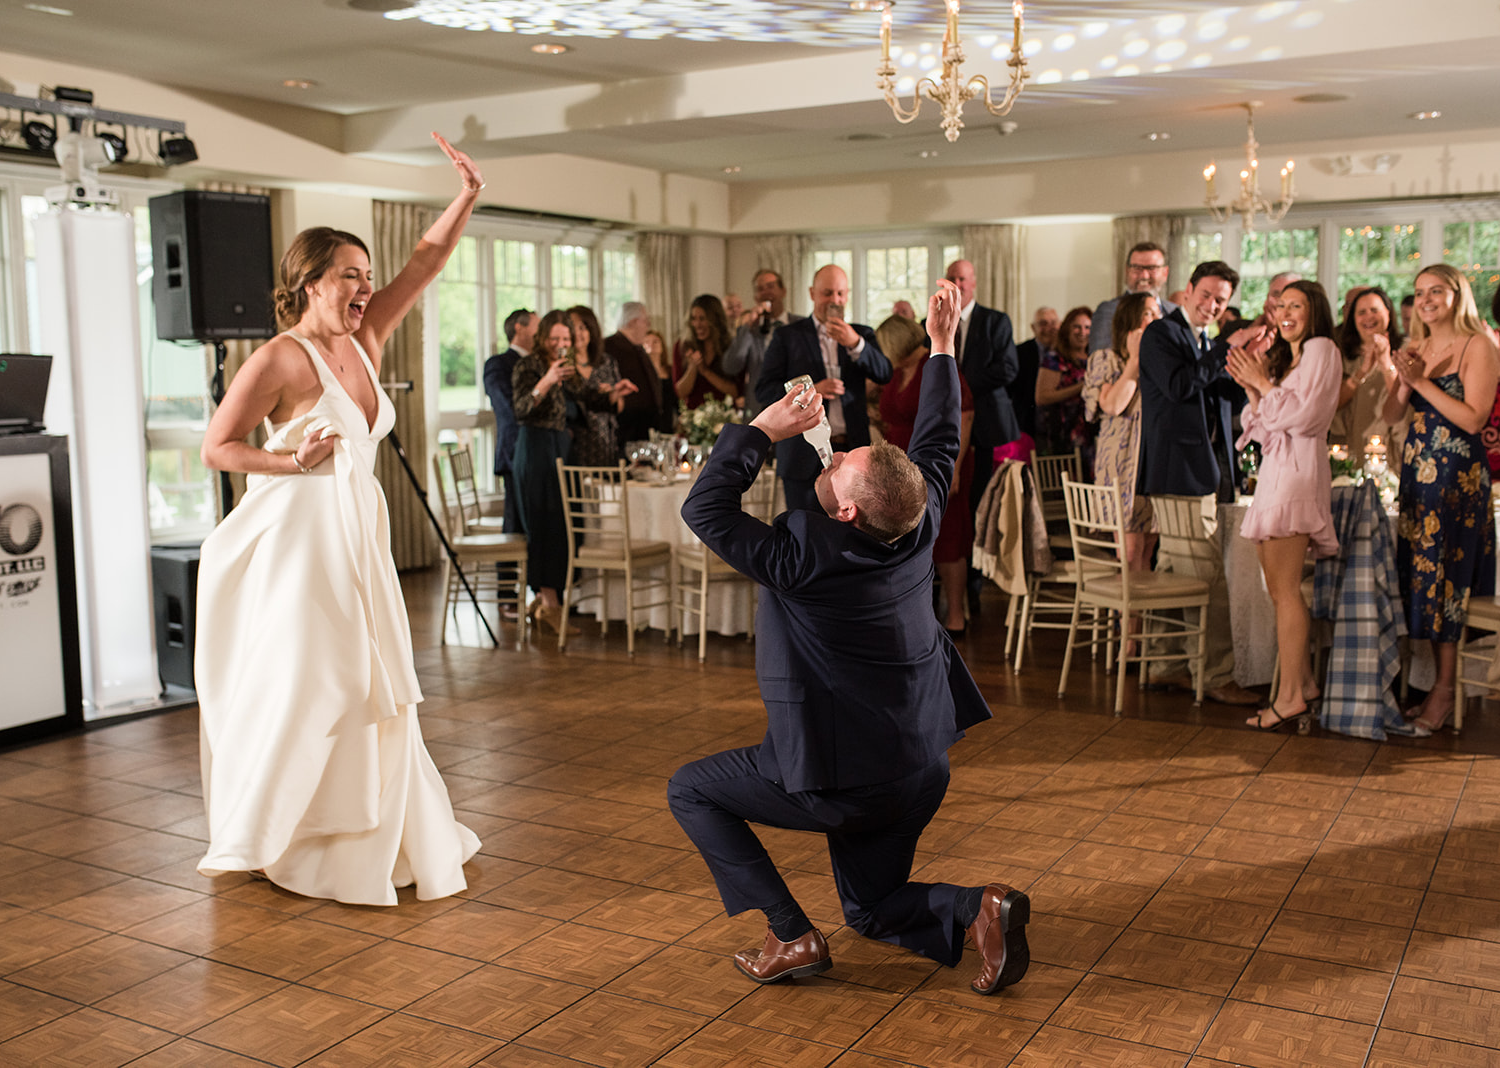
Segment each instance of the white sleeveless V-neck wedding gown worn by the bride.
M390 555L375 450L396 412L358 350L380 411L369 428L316 350L312 411L266 450L339 435L312 474L250 476L202 544L195 674L204 874L264 870L286 890L394 904L465 888L478 838L454 820L417 728L422 692ZM358 348L358 342L356 342Z

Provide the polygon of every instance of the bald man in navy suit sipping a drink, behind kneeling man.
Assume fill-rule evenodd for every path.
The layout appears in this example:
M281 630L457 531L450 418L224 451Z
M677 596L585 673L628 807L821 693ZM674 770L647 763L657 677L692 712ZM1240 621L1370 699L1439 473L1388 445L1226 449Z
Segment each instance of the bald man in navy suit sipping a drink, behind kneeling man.
M891 381L891 362L874 344L870 327L844 322L849 276L842 267L820 267L807 292L813 298L812 318L786 324L771 334L771 344L765 346L765 362L754 384L756 402L765 408L782 398L788 380L812 375L826 405L834 450L868 446L870 412L864 405L864 384L866 380ZM813 482L820 471L818 453L800 436L777 444L776 472L786 490L786 507L819 507Z

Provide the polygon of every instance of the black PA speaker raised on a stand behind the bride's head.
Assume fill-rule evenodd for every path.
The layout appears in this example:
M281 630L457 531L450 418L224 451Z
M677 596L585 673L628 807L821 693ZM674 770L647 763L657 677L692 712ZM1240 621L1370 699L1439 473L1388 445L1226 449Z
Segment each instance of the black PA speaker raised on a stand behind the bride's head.
M184 189L150 208L156 336L274 336L270 198Z

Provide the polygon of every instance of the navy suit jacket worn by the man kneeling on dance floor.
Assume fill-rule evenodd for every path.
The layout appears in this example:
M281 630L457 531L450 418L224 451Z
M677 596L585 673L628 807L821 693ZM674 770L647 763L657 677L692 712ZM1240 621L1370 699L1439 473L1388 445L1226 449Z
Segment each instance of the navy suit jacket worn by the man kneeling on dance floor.
M990 717L932 608L932 548L958 456L958 368L933 356L922 370L908 454L927 484L927 510L891 544L819 512L786 512L770 526L742 512L770 448L759 428L726 426L682 504L693 532L760 584L760 772L801 792L926 768Z

